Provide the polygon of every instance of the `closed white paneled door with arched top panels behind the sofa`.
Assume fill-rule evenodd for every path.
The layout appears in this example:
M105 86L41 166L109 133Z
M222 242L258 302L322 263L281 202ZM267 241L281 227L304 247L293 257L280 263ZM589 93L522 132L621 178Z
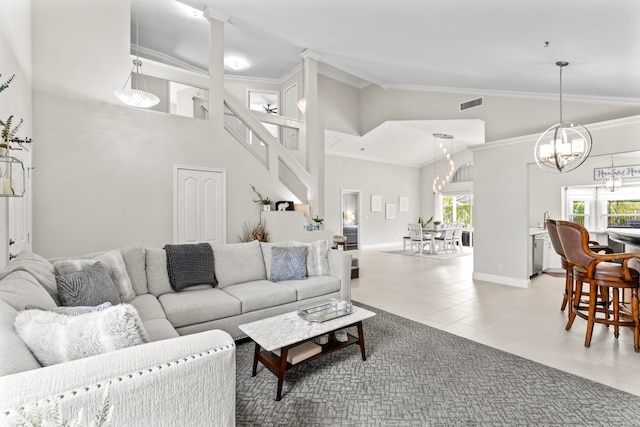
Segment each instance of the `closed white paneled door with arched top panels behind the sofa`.
M226 243L225 171L176 166L174 243Z

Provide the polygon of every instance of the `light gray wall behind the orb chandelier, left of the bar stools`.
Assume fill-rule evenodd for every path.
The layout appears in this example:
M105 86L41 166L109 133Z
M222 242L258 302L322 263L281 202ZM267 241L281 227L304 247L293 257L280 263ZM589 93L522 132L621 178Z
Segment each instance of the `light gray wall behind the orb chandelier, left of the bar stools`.
M593 135L592 156L637 149L640 117L585 125ZM562 186L593 183L593 167L602 159L594 158L561 175L532 167L538 136L495 142L473 150L476 279L526 286L529 227L542 220L545 210L552 217L559 217ZM503 271L499 271L499 265Z

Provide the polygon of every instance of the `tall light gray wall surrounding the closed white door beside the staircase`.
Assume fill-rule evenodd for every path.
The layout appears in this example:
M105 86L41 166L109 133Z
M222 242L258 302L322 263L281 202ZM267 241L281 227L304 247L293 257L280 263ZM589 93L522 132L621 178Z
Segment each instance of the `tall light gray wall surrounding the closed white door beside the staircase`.
M67 256L173 238L173 166L227 171L227 239L257 223L254 184L292 195L222 127L222 78L212 72L212 120L120 104L131 69L129 2L33 2L34 250ZM83 19L77 19L82 16ZM213 30L219 30L213 28ZM219 41L220 47L222 41ZM212 48L222 69L222 54ZM145 66L145 68L148 68Z

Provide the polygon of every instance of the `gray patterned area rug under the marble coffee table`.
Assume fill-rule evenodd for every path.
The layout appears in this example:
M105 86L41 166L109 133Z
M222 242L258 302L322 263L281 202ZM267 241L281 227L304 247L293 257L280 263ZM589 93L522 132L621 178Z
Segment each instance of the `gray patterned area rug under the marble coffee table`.
M238 426L637 426L640 397L368 307L352 345L276 377L237 346ZM355 333L355 331L354 331Z

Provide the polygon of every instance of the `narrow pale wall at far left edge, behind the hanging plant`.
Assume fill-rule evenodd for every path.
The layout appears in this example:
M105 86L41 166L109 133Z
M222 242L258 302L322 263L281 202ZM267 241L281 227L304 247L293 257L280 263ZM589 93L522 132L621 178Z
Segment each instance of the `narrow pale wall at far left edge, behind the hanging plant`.
M13 115L14 126L24 119L18 136L32 137L31 2L3 2L0 28L0 84L16 75L9 88L0 93L0 118L4 121ZM7 200L0 197L0 267L8 262Z

